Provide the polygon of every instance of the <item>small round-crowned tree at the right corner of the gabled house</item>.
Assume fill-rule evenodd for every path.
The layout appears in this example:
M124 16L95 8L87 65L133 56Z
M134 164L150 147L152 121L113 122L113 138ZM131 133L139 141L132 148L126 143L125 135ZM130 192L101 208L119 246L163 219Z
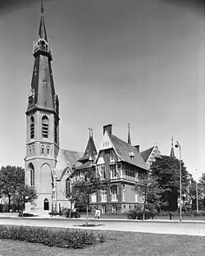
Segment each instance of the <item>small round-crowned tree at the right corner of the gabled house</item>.
M159 208L162 191L158 182L152 176L148 176L147 174L140 176L139 180L135 183L134 190L144 201L144 214L147 203L151 203L155 208Z

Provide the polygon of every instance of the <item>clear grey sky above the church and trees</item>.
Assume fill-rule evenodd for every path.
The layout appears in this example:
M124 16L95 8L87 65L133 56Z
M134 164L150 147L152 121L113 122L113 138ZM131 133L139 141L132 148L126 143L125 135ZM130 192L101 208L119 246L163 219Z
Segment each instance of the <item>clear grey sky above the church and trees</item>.
M170 154L173 136L194 179L205 172L204 14L199 1L183 2L44 1L62 149L84 152L89 126L98 149L109 123L126 141L130 123L140 151L157 143ZM40 1L7 3L0 5L0 165L24 167Z

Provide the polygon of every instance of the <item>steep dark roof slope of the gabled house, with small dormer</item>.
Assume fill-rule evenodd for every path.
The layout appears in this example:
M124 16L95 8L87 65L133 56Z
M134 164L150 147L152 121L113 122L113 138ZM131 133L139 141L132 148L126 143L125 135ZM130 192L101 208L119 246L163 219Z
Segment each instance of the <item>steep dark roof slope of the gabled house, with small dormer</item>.
M147 169L144 159L142 158L137 149L135 149L132 145L126 143L125 141L117 138L115 135L108 135L112 140L112 144L114 149L116 150L116 154L119 158L121 158L122 161L129 162L130 164L133 164L142 169ZM133 160L130 158L130 153L134 153Z

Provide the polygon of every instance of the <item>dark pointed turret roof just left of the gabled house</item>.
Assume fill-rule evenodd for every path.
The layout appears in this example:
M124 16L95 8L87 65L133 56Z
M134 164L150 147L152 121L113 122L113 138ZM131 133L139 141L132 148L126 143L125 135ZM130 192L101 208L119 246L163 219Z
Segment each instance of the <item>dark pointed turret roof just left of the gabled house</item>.
M89 127L89 141L84 150L83 158L80 158L78 161L83 163L91 160L93 161L96 155L97 155L97 150L95 148L95 144L93 141L93 129Z

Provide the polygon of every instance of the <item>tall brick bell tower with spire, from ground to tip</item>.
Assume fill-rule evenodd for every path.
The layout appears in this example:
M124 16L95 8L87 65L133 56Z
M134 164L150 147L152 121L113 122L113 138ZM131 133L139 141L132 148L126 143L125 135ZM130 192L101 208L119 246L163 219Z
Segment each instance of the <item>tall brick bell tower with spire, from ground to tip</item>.
M34 70L27 96L25 182L38 193L34 208L52 208L52 168L59 150L59 100L52 77L52 52L46 33L43 0L39 37L34 42Z

